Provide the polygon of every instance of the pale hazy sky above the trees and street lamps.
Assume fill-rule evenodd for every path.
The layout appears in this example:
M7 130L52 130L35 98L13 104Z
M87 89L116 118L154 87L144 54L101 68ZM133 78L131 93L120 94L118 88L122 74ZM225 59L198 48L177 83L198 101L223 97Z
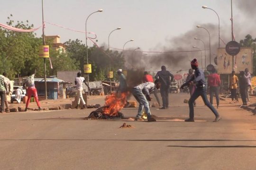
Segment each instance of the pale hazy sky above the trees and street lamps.
M234 23L241 24L246 17L234 1ZM160 49L159 46L195 29L196 25L218 24L216 14L201 8L202 5L219 13L221 26L231 27L230 0L44 0L44 12L48 22L84 31L86 17L102 8L103 12L91 15L87 22L87 31L97 34L99 45L107 45L110 32L121 27L111 34L110 47L122 49L125 42L135 39L127 43L126 48L141 47L148 51ZM15 21L29 20L35 27L41 26L41 0L1 1L0 23L6 23L9 14ZM84 34L49 24L46 24L45 33L60 35L62 42L77 38L85 42ZM205 33L202 31L202 34ZM37 36L40 35L41 30L37 31ZM218 40L218 37L214 38Z

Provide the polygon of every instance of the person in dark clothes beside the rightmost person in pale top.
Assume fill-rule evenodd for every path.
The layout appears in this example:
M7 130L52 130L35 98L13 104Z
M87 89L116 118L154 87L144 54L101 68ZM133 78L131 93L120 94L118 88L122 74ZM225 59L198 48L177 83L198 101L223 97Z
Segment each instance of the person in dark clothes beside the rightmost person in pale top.
M247 78L245 76L244 71L240 71L238 82L239 82L239 92L241 94L243 105L247 105L247 101L246 101L246 94L248 92L247 91Z

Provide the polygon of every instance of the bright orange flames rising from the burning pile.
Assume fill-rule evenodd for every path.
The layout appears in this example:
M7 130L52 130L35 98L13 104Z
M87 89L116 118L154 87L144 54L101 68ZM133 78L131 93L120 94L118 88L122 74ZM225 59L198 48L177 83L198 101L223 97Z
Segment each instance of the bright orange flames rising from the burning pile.
M111 116L117 116L118 112L125 106L128 93L113 92L105 99L104 113Z

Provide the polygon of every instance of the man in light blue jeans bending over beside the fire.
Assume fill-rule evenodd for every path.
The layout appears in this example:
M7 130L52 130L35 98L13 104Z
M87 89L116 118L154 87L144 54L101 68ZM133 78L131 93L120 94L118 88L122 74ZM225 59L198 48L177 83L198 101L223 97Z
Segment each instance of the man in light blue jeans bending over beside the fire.
M143 108L147 115L147 121L156 121L154 118L151 117L148 101L151 101L150 92L155 90L155 88L159 89L160 86L160 82L158 80L155 80L155 83L146 82L133 87L132 94L139 103L138 112L136 116L137 121L143 121L143 119L141 118Z

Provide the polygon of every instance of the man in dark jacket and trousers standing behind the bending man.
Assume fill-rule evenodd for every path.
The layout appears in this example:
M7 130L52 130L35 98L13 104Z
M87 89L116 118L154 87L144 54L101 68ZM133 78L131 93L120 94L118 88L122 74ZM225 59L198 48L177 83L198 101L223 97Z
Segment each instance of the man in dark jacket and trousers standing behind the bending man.
M160 109L168 109L169 107L169 88L171 82L174 80L174 76L169 72L166 71L166 67L162 66L161 71L158 71L155 75L155 79L159 80L161 83L160 93L162 96L163 107ZM171 80L170 80L171 77Z

